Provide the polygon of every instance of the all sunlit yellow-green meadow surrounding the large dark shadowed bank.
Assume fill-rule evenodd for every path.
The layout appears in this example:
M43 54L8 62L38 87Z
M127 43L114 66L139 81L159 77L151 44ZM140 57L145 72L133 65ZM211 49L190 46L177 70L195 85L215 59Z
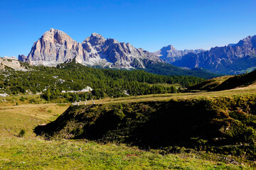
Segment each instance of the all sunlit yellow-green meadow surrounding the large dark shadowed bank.
M193 94L160 94L105 98L87 104L161 101L171 98L233 96L256 93L255 88ZM15 98L15 99L14 99ZM45 140L33 128L58 118L69 104L29 104L17 96L0 102L0 169L254 169L253 162L205 152L159 154L127 145L106 145L87 140ZM15 101L14 101L15 100ZM16 106L16 101L18 105ZM83 104L81 102L80 104ZM18 137L25 130L23 137Z

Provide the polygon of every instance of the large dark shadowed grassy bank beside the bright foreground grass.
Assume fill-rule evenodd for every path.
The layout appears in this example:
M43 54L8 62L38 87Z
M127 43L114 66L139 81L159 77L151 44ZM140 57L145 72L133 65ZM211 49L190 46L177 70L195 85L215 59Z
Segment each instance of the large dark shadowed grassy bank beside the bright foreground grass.
M205 94L206 95L206 94ZM163 153L207 151L255 159L255 94L70 106L37 134L117 142Z

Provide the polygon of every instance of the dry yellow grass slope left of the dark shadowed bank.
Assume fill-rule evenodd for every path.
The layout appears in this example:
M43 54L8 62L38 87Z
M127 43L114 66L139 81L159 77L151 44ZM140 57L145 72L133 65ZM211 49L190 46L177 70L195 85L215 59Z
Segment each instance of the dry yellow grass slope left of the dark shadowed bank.
M55 120L69 105L23 104L15 106L11 102L0 103L0 137L17 135L21 129L34 136L33 128Z

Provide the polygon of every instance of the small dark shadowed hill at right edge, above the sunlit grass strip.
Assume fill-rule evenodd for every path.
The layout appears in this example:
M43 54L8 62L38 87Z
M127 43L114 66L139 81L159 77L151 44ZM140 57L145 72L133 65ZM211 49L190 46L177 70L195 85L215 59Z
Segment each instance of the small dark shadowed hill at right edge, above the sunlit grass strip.
M218 77L203 81L201 84L196 84L188 89L203 90L203 91L222 91L227 89L235 89L255 84L256 70L248 74L240 74L236 76Z

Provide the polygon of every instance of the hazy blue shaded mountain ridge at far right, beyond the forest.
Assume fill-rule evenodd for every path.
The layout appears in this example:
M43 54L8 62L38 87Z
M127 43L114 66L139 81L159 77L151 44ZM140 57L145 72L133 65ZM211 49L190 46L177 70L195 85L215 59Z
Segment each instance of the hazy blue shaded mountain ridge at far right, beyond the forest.
M162 48L163 49L163 48ZM161 59L178 67L190 69L202 67L210 72L238 74L247 69L256 68L256 35L248 36L237 44L224 47L212 47L202 52L179 52L178 57L170 50L160 50ZM170 52L169 52L170 51ZM154 52L157 54L157 52ZM167 54L167 57L165 57ZM169 55L169 56L168 56Z

